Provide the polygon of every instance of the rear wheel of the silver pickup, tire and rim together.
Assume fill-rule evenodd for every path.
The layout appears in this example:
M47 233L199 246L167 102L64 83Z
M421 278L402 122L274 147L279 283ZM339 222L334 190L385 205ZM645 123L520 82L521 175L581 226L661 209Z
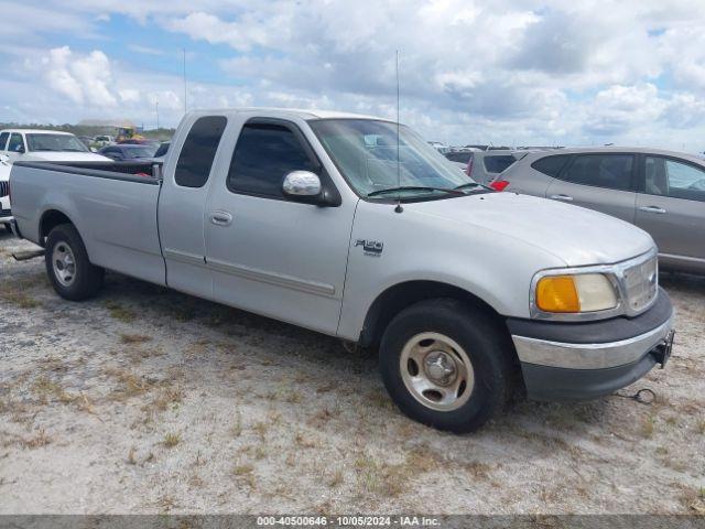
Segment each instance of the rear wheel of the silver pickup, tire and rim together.
M100 290L104 269L90 263L84 241L73 225L62 224L52 229L45 250L46 273L58 295L82 301Z

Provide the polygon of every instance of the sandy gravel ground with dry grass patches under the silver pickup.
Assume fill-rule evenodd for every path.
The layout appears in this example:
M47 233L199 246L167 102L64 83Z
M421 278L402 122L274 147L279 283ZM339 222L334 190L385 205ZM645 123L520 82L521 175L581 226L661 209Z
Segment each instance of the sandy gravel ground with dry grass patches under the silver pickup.
M519 402L478 433L394 408L375 355L117 274L55 295L0 235L0 514L705 514L705 278L654 403Z

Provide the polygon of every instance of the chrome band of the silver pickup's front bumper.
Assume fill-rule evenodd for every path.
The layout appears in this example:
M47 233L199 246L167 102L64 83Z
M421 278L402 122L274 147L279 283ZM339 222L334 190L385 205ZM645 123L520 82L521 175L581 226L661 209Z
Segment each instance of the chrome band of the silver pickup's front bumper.
M512 336L519 360L565 369L605 369L640 359L668 337L673 317L648 333L618 342L567 344L549 339Z

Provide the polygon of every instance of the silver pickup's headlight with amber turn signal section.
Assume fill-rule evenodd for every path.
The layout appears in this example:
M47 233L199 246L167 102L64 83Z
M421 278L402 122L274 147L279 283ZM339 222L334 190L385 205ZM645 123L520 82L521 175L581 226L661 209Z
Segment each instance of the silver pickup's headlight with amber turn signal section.
M541 278L535 304L543 312L579 313L615 309L618 300L604 273L577 273Z

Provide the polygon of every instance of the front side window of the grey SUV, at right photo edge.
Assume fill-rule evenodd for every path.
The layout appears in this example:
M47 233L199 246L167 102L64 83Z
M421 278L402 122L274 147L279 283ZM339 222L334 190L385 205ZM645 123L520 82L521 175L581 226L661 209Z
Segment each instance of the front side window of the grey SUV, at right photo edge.
M705 169L668 158L646 156L644 192L705 202Z

